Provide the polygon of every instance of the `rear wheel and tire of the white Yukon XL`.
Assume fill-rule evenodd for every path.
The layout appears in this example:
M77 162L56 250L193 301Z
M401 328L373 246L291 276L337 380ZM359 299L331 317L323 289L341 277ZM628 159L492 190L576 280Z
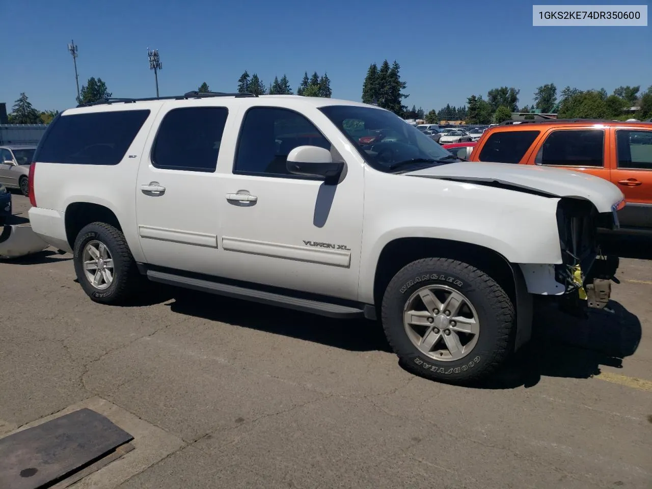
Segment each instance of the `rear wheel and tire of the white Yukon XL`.
M91 278L87 276L85 270L85 262L95 259L95 254L89 248L94 248L95 252L100 253L99 258L104 256L102 263L95 262L95 269L91 265L89 273L97 276L98 269L106 271L110 266L112 267L110 275L100 271L100 277L95 284L91 283ZM112 260L111 265L108 265L106 259ZM83 291L96 303L125 303L142 280L125 235L105 222L93 222L82 228L75 239L73 260L75 273ZM110 281L107 280L108 276L111 278Z

